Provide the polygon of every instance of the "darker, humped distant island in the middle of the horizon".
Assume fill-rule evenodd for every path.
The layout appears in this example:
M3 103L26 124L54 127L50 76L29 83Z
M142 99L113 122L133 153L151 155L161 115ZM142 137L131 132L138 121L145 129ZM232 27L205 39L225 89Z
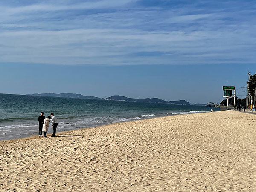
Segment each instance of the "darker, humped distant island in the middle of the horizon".
M185 100L164 101L164 100L158 99L158 98L152 98L152 99L150 99L150 98L146 98L146 99L133 99L133 98L128 98L128 97L119 96L119 95L114 95L114 96L108 97L105 100L125 101L125 102L144 102L144 103L165 103L165 104L190 105L190 103L185 101Z

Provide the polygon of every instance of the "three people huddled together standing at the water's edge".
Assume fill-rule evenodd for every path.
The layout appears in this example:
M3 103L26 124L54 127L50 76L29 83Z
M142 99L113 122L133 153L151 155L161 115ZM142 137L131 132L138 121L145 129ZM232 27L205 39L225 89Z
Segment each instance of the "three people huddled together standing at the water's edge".
M55 137L56 128L58 126L58 120L53 113L51 113L50 116L47 116L47 118L45 118L44 112L41 112L41 115L38 117L38 121L39 121L39 133L38 133L39 137L43 136L43 131L44 131L44 137L47 137L46 133L48 131L49 122L52 122L52 127L53 127L53 133L51 137Z

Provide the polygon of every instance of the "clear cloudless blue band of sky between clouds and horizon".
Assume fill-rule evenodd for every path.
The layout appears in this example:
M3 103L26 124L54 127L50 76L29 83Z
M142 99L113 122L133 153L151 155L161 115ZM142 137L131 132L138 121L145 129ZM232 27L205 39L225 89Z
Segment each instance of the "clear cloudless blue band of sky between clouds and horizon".
M190 103L221 102L222 86L236 86L239 98L246 93L247 72L253 64L215 65L50 65L9 64L0 70L1 93L81 93L106 98L158 97ZM9 73L10 71L10 73Z

